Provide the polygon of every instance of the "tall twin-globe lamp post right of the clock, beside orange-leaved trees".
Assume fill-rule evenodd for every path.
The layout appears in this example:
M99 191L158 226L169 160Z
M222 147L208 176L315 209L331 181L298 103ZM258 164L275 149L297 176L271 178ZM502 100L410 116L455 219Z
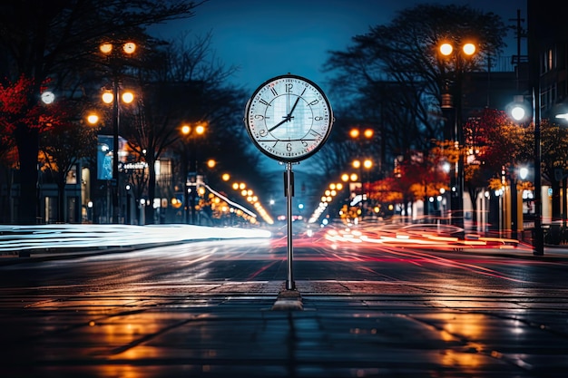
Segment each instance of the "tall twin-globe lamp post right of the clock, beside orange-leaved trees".
M440 44L439 52L447 57L454 59L454 81L453 92L450 92L449 81L446 82L446 93L442 94L441 106L443 109L451 110L453 108L454 123L453 127L449 130L451 139L455 142L455 147L458 150L457 163L455 164L454 174L450 176L452 181L451 189L451 209L452 209L452 223L458 228L465 228L464 223L464 156L461 150L464 147L464 126L462 124L462 81L465 72L466 59L471 59L475 54L475 44L465 43L461 44L461 49L455 49L453 44L444 43ZM449 117L448 117L449 118ZM457 216L456 214L457 213Z

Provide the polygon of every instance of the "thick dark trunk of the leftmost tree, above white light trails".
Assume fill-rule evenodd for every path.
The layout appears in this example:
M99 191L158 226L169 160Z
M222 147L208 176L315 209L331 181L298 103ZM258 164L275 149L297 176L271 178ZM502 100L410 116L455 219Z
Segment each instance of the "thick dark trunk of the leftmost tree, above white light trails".
M37 155L39 132L20 123L15 130L15 141L20 161L20 195L16 222L24 225L36 223L39 197L37 190Z

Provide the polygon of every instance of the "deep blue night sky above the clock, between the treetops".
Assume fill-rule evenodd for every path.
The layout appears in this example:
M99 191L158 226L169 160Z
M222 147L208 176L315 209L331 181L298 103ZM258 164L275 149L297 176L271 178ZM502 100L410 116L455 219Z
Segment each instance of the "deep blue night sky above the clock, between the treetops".
M216 57L227 68L239 68L232 82L250 91L285 73L307 77L325 90L321 70L328 51L345 50L353 36L388 24L398 11L419 3L468 4L501 15L511 25L517 9L526 18L526 0L208 0L195 8L193 17L162 26L158 34L170 38L211 32ZM514 54L514 40L507 44L513 50L504 54Z

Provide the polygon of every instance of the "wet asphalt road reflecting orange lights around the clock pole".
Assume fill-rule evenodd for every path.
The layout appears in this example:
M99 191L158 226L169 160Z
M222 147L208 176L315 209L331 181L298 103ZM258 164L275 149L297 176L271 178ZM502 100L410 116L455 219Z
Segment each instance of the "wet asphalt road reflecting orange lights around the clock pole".
M299 238L0 266L2 377L563 377L568 258Z

